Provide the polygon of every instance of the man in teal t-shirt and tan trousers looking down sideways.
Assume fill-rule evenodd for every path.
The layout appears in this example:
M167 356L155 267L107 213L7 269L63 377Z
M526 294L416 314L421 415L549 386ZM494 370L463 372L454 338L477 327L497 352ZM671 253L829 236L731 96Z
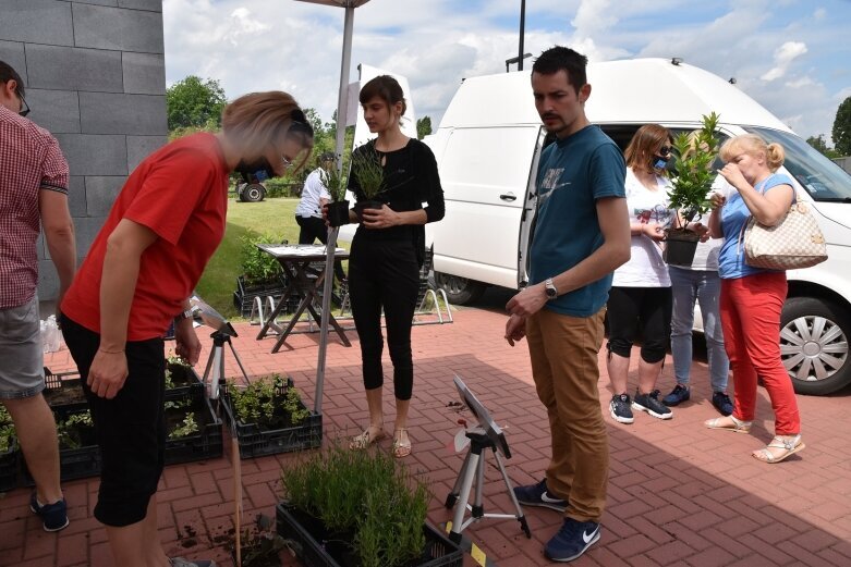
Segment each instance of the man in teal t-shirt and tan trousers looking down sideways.
M572 49L554 47L532 66L535 107L558 139L538 168L530 285L506 306L506 338L512 346L527 340L552 445L545 479L514 494L521 504L563 511L544 547L557 562L575 559L599 540L609 447L597 355L611 273L630 258L627 167L585 116L586 64Z

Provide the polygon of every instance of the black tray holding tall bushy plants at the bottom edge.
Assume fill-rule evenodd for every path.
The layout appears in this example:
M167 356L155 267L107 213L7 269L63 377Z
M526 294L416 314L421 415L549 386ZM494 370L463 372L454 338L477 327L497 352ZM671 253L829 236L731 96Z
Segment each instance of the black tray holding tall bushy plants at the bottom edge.
M350 562L342 562L338 554L330 550L333 545L326 545L325 541L317 541L315 535L323 531L321 523L307 515L300 514L287 501L276 506L278 534L295 542L293 550L305 567L350 567ZM464 552L449 538L443 535L430 523L423 525L426 537L426 548L418 562L405 567L462 567ZM330 542L328 542L330 543Z

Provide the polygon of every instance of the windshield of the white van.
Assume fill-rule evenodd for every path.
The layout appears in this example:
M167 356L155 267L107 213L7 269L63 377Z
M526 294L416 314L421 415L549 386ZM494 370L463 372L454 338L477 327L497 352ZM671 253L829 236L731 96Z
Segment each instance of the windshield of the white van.
M802 138L770 128L744 126L744 130L783 147L783 165L814 200L851 202L851 175Z

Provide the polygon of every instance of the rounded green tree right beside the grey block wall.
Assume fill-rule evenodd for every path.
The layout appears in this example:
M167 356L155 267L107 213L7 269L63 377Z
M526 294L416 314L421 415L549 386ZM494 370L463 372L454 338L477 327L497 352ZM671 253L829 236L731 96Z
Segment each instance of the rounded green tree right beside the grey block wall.
M218 130L228 99L219 82L190 75L166 89L169 131Z

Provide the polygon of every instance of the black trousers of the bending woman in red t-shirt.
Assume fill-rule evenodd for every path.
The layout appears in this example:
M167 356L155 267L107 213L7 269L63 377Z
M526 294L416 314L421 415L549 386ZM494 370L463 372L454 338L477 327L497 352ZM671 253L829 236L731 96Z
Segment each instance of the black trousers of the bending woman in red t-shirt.
M100 335L62 317L62 334L80 370L102 460L95 518L112 527L147 516L166 455L166 354L162 338L129 341L127 379L112 399L86 384Z

